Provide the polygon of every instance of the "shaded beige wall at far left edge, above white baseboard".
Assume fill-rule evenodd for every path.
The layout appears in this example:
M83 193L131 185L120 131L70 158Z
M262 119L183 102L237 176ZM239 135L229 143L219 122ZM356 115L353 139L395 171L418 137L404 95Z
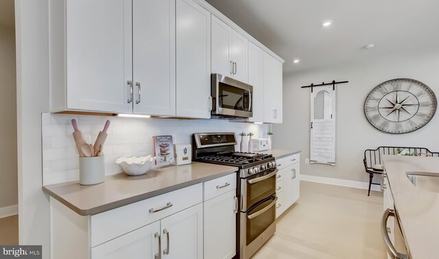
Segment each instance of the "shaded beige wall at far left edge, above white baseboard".
M15 72L15 32L0 26L0 208L18 203Z

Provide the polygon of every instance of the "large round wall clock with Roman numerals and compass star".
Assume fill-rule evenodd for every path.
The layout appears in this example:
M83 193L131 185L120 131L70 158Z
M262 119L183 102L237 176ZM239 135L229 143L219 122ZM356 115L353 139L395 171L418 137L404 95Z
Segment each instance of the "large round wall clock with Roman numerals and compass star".
M366 98L364 114L382 132L403 134L427 124L436 112L436 96L425 84L399 78L383 82Z

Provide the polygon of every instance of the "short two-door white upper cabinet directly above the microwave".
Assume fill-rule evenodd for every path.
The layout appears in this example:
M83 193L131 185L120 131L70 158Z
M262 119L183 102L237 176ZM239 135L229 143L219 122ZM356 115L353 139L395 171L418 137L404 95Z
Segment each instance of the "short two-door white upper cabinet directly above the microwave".
M248 40L212 15L212 73L247 83Z

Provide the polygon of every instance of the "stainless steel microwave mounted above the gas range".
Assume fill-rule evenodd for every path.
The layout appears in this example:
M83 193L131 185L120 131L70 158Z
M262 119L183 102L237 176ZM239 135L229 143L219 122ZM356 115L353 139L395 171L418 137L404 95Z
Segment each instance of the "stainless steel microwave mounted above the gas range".
M212 74L213 118L250 118L253 86L224 75Z

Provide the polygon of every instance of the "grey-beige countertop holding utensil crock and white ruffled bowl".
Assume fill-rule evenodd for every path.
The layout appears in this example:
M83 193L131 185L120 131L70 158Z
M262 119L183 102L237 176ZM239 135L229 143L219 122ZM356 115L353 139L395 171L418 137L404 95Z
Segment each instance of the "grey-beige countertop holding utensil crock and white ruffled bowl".
M43 191L86 216L132 204L193 184L236 172L237 167L192 162L181 166L152 169L145 175L106 175L105 182L82 186L78 181L43 186Z

